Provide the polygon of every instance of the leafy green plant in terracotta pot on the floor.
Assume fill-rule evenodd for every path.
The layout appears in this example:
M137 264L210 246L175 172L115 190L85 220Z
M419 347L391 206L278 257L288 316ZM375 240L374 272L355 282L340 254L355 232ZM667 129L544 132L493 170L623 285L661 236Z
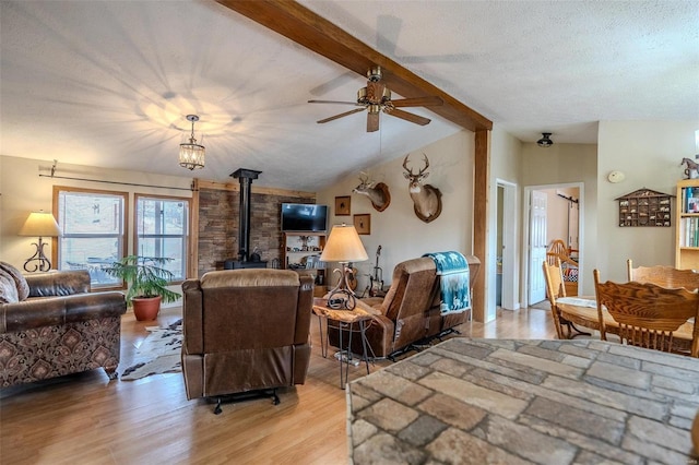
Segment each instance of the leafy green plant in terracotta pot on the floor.
M155 320L161 310L161 301L168 303L179 299L178 293L167 288L175 275L163 265L170 260L173 259L127 255L105 270L127 284L127 305L133 306L137 320Z

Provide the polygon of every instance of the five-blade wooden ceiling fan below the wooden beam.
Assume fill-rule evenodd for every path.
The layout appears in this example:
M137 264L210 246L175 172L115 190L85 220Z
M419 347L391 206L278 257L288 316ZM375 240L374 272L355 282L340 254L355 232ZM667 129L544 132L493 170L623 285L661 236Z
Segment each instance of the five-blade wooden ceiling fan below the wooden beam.
M441 97L415 97L415 98L401 98L398 100L391 100L391 90L381 83L381 67L374 67L367 72L367 86L362 87L357 92L357 102L336 102L336 100L308 100L309 104L344 104L355 105L363 108L356 108L354 110L345 111L340 115L332 116L330 118L321 119L318 123L333 121L339 118L343 118L359 111L368 110L367 114L367 132L374 132L379 130L379 112L383 110L384 114L394 116L396 118L404 119L405 121L414 122L415 124L425 126L429 124L430 119L424 118L417 115L410 114L399 109L399 107L428 107L442 105L445 100Z

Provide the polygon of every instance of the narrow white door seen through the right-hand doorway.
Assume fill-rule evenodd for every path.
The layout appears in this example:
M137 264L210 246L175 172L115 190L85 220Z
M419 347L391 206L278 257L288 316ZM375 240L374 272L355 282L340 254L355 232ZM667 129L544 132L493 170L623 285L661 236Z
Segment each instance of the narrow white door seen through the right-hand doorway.
M546 192L532 191L529 226L529 303L546 298L542 264L546 260Z

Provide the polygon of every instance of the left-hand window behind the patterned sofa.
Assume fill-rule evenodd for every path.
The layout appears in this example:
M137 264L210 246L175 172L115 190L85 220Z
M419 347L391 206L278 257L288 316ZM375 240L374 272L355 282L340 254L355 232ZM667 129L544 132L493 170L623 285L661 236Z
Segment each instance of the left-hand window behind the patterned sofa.
M104 270L123 257L126 192L54 187L59 270L87 270L92 286L118 287L121 281Z

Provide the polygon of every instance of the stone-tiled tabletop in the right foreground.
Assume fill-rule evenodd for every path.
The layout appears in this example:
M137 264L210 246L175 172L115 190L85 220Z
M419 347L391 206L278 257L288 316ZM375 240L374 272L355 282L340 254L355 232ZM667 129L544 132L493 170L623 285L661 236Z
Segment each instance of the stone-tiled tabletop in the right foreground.
M347 385L350 462L697 464L699 359L454 337Z

